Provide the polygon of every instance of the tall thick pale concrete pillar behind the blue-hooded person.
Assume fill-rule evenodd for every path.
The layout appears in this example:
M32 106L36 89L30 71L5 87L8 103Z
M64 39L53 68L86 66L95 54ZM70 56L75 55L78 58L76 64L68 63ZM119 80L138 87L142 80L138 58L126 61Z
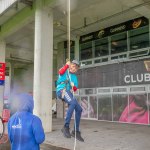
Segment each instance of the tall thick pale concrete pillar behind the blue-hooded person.
M34 43L34 114L45 132L52 131L53 15L37 0Z

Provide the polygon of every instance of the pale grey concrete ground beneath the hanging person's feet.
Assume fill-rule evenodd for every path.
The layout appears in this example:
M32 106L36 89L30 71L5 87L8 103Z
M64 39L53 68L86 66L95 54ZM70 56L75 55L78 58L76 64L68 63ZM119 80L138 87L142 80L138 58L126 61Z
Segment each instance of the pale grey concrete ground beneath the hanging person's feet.
M62 126L62 119L53 119L53 132L46 134L45 143L73 149L74 138L63 137L60 131ZM77 141L76 150L150 149L150 127L148 126L82 120L81 129L85 142Z

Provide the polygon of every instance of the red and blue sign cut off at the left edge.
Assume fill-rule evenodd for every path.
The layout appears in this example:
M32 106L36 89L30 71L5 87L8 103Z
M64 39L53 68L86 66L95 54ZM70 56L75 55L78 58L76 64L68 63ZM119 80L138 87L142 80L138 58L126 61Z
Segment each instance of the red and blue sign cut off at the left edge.
M0 62L0 85L4 85L6 64Z

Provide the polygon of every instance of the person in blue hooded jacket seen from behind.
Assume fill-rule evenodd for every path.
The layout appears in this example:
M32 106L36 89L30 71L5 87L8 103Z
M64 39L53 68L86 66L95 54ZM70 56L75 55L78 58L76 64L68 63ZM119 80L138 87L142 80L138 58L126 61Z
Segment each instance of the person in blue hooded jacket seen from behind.
M33 115L33 97L19 94L14 102L17 112L8 121L11 150L39 150L45 134L40 118Z

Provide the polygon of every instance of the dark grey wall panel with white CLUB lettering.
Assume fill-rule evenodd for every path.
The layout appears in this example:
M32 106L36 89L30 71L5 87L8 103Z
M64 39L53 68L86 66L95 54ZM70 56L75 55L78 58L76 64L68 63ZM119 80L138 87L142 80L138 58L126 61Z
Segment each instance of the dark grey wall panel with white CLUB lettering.
M81 69L79 88L150 84L150 59Z

